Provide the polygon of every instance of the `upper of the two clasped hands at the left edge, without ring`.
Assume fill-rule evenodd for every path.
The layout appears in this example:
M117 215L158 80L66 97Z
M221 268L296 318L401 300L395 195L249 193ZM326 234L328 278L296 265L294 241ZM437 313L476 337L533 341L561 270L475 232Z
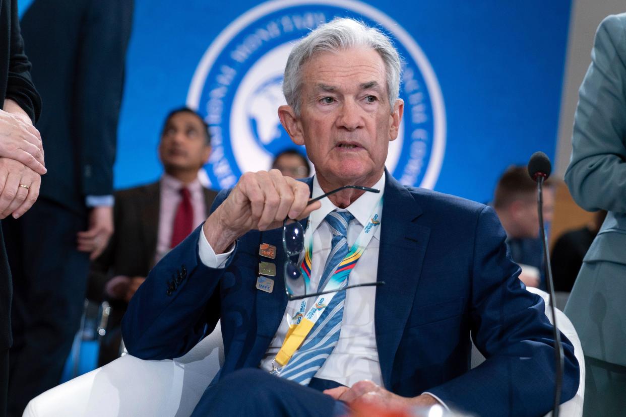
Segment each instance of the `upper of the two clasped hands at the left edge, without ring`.
M0 110L0 158L15 159L39 175L46 173L39 131L4 110Z

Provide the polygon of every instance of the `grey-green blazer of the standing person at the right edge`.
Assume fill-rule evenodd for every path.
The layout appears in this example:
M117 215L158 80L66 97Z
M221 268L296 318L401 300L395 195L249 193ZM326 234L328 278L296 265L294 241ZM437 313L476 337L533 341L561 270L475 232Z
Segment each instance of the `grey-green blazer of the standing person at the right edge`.
M579 95L565 182L578 205L608 215L565 314L585 355L626 366L626 13L598 27Z

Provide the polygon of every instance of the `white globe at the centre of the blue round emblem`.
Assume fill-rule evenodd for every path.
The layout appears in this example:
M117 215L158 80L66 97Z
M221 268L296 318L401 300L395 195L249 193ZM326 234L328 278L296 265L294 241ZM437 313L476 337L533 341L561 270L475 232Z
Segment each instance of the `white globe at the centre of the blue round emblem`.
M278 117L277 109L285 103L282 76L277 76L260 84L250 94L246 106L247 121L255 141L272 155L297 146L289 138Z

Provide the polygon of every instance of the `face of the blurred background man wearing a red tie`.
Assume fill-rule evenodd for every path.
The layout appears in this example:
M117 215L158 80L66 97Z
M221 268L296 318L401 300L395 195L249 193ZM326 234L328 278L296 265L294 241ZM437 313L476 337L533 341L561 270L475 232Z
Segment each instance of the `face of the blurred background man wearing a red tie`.
M200 169L207 163L211 147L207 145L205 128L195 114L174 114L165 125L158 146L159 157L166 171Z

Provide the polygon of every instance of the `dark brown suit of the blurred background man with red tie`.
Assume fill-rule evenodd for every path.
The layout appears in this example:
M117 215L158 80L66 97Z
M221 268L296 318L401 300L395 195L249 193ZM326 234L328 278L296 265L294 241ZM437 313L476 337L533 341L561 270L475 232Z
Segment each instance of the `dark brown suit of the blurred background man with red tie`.
M160 181L115 193L115 232L103 254L92 264L88 296L101 301L105 285L116 275L148 276L155 264L156 239L159 228L161 199ZM208 214L217 193L203 189L205 212ZM110 300L111 313L106 335L100 343L98 366L119 356L121 318L125 301Z

